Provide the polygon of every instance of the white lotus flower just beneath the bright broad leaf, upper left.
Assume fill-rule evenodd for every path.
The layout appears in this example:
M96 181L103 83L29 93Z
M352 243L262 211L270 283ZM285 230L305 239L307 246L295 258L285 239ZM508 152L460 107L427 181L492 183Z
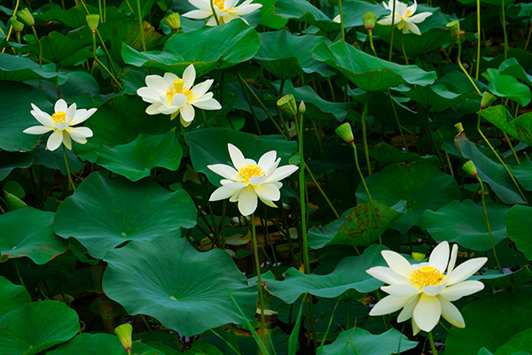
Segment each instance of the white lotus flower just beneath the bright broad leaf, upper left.
M191 64L183 73L183 79L174 73L146 76L146 85L137 89L137 95L146 103L147 114L169 114L174 120L178 114L184 127L189 126L194 120L194 106L203 110L220 110L222 106L213 98L212 92L207 92L214 80L209 79L198 85L193 85L196 80L196 69ZM193 85L193 86L192 86Z

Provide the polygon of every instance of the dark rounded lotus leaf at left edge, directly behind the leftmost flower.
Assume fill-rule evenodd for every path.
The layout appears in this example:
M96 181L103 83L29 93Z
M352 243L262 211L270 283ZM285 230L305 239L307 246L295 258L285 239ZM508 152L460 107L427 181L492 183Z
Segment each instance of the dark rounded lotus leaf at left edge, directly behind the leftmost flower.
M39 142L39 135L22 132L27 127L40 125L29 113L31 104L36 104L43 111L49 111L51 103L41 91L31 89L21 82L0 81L0 92L0 149L32 150Z

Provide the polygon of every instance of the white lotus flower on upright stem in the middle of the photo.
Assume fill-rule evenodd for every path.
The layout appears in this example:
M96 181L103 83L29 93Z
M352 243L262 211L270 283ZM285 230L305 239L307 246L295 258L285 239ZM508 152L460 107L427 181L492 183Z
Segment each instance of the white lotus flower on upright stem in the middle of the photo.
M255 163L252 159L244 158L242 152L231 143L227 144L227 147L234 167L225 164L207 166L225 178L220 181L222 186L215 189L209 201L219 201L230 197L229 201L239 202L239 211L244 216L250 215L256 210L257 197L265 205L277 207L273 201L278 201L281 198L279 189L283 183L279 180L293 174L298 166L278 167L281 158L277 158L277 151L275 150L265 153L259 162Z

